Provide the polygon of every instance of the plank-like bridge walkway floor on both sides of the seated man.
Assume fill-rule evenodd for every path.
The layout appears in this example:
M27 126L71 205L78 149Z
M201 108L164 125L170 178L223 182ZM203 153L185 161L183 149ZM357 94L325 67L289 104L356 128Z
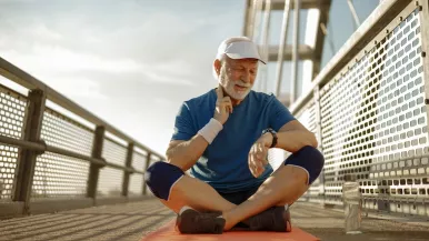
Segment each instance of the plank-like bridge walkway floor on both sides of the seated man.
M343 234L343 217L336 210L315 204L296 203L292 223L307 232L329 241L423 241L429 240L425 223L405 223L365 218L363 234ZM158 200L148 199L127 204L38 214L0 221L0 240L140 240L174 218L174 213Z

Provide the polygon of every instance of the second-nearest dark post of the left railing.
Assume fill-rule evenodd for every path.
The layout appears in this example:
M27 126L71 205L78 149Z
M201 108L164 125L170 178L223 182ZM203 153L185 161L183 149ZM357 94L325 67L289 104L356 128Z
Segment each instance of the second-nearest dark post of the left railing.
M102 147L104 142L104 132L106 129L102 125L98 125L96 129L96 133L93 137L93 143L92 143L92 158L101 159L102 154ZM100 174L100 165L96 163L91 163L89 167L89 174L88 174L88 187L87 187L87 198L94 199L97 198L97 185L98 185L98 178Z

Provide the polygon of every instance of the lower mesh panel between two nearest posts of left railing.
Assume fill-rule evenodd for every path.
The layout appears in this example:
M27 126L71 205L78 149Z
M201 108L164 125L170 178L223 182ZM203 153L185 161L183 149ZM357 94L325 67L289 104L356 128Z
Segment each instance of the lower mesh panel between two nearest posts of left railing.
M80 198L86 194L89 162L46 152L37 158L31 198Z

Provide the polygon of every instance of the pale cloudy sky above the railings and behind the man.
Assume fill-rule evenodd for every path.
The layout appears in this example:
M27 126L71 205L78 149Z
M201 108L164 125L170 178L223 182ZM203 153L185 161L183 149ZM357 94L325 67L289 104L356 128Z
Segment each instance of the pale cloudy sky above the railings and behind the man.
M355 4L363 21L378 1ZM243 13L245 0L0 0L0 57L163 154L180 104L217 86L216 50L241 34ZM330 24L338 51L355 31L346 0L332 1ZM266 68L269 91L276 64Z

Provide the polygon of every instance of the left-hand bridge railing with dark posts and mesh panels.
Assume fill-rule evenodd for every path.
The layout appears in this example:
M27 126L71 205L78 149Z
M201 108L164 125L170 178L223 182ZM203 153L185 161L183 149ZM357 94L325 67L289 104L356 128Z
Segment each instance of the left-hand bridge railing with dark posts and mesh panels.
M0 218L149 194L144 170L163 155L1 58L0 74L28 92L0 86Z

